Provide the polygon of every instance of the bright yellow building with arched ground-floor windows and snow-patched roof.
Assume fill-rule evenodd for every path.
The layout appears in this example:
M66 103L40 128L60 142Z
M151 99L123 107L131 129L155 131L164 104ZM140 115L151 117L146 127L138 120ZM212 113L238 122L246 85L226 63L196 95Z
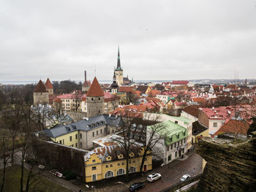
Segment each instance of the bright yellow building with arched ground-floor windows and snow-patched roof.
M139 172L143 158L143 148L135 145L129 153L129 173ZM120 145L97 147L85 155L86 183L104 180L126 174L127 161L124 148ZM148 152L143 164L143 172L152 169L152 155Z

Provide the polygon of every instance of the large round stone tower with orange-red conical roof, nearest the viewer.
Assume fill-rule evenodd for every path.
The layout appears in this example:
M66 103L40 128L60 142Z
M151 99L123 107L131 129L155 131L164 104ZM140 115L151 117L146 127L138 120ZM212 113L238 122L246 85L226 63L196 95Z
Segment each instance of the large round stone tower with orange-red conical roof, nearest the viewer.
M104 113L104 92L99 85L96 77L91 83L88 93L86 94L87 118Z

